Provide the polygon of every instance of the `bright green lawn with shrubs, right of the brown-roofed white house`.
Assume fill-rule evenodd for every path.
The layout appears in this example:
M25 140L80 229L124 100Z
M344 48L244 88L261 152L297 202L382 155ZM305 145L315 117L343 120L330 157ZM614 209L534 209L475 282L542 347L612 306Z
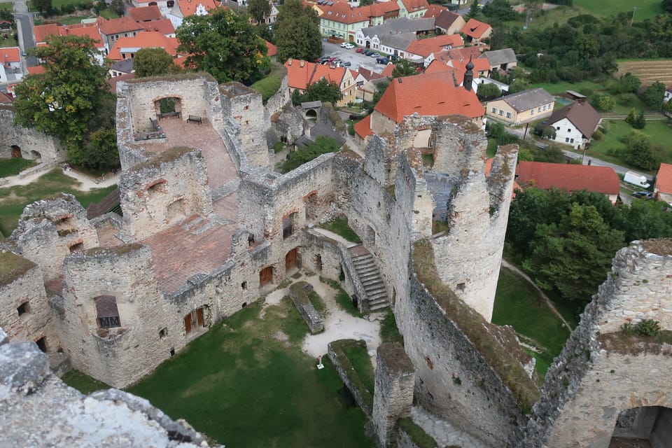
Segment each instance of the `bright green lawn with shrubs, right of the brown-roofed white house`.
M607 129L601 140L594 140L591 148L586 151L587 158L599 158L606 162L617 163L627 167L623 162L620 152L626 148L620 139L633 131L633 127L624 120L603 120L603 126ZM647 120L644 129L640 130L650 137L651 145L659 145L662 148L661 161L672 163L672 127L667 120ZM637 169L634 168L633 169ZM637 169L642 171L641 169Z

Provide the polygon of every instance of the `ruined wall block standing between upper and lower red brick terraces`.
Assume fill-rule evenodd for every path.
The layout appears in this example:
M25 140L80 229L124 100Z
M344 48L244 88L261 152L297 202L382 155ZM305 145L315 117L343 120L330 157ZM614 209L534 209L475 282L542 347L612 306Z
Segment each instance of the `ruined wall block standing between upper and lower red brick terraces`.
M199 150L173 148L122 173L121 209L132 237L144 239L192 215L212 212Z

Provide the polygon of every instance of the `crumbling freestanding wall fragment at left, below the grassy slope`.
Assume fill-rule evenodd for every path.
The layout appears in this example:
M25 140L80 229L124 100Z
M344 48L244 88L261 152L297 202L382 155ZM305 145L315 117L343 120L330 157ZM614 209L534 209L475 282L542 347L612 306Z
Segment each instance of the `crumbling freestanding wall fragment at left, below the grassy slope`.
M82 205L62 193L29 204L6 244L39 265L48 281L62 276L63 260L72 251L98 246L98 235Z

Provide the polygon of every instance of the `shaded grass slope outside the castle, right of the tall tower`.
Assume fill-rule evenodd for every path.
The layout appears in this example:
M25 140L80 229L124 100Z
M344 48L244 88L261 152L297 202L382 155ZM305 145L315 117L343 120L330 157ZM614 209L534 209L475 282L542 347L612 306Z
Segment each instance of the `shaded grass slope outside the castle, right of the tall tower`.
M499 274L492 321L497 325L511 325L523 342L540 349L541 353L533 353L540 379L570 335L570 329L563 326L538 291L505 268Z

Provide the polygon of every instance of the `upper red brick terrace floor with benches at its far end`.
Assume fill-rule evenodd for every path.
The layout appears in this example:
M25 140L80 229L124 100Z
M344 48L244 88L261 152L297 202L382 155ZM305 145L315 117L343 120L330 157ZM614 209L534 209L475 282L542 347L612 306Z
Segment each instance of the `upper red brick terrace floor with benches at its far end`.
M203 124L189 123L179 118L165 118L160 125L166 133L166 141L143 142L147 151L160 154L174 146L188 146L202 151L203 157L208 162L208 180L210 189L237 179L238 172L231 160L226 146L221 137L215 132L206 118Z

